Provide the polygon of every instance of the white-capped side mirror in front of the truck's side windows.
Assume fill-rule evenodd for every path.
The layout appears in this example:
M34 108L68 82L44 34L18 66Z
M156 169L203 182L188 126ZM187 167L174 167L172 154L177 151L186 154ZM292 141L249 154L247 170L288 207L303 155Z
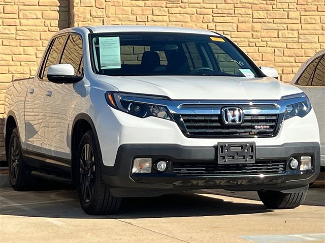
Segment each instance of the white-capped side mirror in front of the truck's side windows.
M80 81L82 76L75 76L75 69L71 64L55 64L47 69L47 79L53 83L71 84Z

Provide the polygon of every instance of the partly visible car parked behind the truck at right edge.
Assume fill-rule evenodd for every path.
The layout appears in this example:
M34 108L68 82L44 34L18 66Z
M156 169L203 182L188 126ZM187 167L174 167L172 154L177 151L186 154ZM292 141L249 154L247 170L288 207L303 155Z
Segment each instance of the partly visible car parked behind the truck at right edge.
M325 50L309 58L291 81L310 99L317 116L320 134L320 166L325 167Z

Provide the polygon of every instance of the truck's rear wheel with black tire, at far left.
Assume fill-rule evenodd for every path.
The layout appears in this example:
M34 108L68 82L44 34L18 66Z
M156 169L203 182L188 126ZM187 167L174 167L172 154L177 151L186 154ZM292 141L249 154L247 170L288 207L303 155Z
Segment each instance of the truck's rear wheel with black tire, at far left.
M17 128L11 133L8 153L9 180L12 188L16 191L31 190L35 178L31 175L31 168L23 159Z

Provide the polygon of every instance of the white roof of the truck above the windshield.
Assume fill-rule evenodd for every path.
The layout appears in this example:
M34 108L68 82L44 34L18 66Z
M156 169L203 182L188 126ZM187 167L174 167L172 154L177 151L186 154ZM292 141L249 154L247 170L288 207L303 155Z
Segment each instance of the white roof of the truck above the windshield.
M78 28L78 27L77 27ZM191 34L207 34L220 36L210 30L167 27L167 26L146 26L146 25L110 25L110 26L87 26L93 33L108 32L171 32L171 33L191 33Z

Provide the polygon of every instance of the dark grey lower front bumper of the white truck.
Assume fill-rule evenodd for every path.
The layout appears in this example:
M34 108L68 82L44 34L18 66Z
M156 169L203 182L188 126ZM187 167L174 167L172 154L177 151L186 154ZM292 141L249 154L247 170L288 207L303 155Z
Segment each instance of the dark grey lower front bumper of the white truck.
M256 160L285 160L291 156L310 155L312 170L292 171L287 163L282 174L179 175L171 173L132 174L135 157L168 158L182 163L217 163L215 146L181 146L176 144L124 144L118 149L113 167L102 165L102 176L114 196L158 196L173 192L222 188L234 191L289 191L306 187L320 171L317 142L256 146Z

